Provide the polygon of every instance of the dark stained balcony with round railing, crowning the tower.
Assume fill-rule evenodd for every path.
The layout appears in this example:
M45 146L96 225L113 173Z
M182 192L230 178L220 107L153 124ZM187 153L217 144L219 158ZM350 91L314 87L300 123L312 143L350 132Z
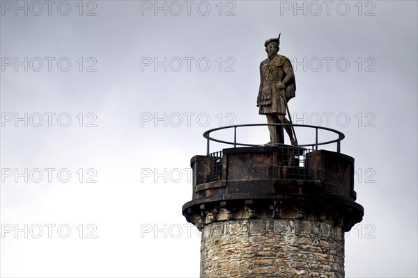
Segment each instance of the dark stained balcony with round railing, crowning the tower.
M291 146L275 142L254 145L237 140L236 129L267 125L225 126L203 133L207 155L194 156L190 163L192 201L183 206L187 221L201 229L214 221L297 215L301 219L332 218L344 231L360 222L364 209L355 203L354 158L341 154L343 133L295 124L315 129L314 142ZM233 140L210 136L221 129L234 129ZM323 130L336 134L336 139L318 142L318 132ZM233 147L210 153L211 141ZM336 144L336 152L318 149L330 144Z

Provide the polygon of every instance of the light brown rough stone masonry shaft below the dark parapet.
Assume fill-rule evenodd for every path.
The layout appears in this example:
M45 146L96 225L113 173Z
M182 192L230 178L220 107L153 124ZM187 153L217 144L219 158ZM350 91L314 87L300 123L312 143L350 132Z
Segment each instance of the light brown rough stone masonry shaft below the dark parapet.
M344 277L344 233L314 220L212 222L202 231L201 277Z

